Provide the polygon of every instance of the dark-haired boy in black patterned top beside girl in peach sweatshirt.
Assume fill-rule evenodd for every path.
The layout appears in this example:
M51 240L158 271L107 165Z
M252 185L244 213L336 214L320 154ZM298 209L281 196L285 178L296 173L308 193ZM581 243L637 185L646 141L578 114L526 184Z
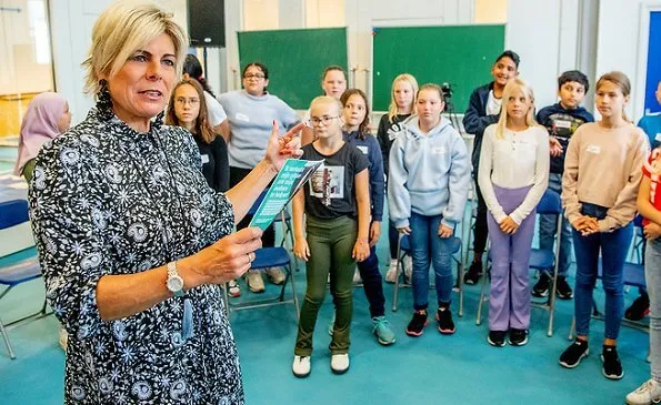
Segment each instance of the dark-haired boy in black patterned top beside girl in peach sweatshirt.
M537 114L537 121L549 131L551 143L551 173L549 189L562 192L562 173L564 172L564 153L574 131L585 122L594 122L594 117L581 107L581 102L590 88L588 77L578 70L570 70L558 78L558 97L560 101L544 107ZM557 215L540 215L539 240L540 249L553 250L557 232ZM570 264L571 224L562 215L560 239L560 255L558 257L558 284L555 295L561 300L571 300L573 292L567 282L567 271ZM551 274L542 272L538 283L532 287L532 295L547 296L553 279Z

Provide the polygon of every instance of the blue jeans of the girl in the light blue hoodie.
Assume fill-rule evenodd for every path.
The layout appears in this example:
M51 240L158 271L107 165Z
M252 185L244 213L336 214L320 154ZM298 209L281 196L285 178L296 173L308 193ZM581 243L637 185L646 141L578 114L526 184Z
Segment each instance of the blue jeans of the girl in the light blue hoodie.
M441 215L427 216L411 212L411 256L413 259L413 307L429 306L429 265L433 264L439 306L452 301L452 240L439 236Z

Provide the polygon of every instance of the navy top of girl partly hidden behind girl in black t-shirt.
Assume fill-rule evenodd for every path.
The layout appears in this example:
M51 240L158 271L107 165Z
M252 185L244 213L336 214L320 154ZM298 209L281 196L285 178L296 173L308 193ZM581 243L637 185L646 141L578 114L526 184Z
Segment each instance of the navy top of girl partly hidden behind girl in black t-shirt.
M358 131L342 131L344 141L358 148L370 161L370 201L372 203L372 221L381 222L383 220L383 195L385 185L383 184L383 156L379 141L369 133L364 140L360 139Z

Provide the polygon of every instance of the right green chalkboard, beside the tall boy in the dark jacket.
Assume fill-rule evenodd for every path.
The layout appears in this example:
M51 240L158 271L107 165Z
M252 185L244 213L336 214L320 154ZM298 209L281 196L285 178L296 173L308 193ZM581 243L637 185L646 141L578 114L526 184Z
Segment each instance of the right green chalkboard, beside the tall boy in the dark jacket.
M411 73L420 85L450 83L457 112L471 92L491 80L491 65L504 49L504 26L388 27L373 31L373 104L387 111L392 80Z

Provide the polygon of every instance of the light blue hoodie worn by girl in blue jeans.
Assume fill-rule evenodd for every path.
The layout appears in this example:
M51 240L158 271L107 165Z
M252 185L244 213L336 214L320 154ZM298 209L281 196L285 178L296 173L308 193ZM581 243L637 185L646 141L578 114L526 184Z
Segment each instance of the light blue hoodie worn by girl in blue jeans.
M390 219L397 227L409 226L412 211L442 215L441 222L454 227L463 219L471 180L463 139L445 118L428 134L420 131L417 115L401 126L390 150Z

